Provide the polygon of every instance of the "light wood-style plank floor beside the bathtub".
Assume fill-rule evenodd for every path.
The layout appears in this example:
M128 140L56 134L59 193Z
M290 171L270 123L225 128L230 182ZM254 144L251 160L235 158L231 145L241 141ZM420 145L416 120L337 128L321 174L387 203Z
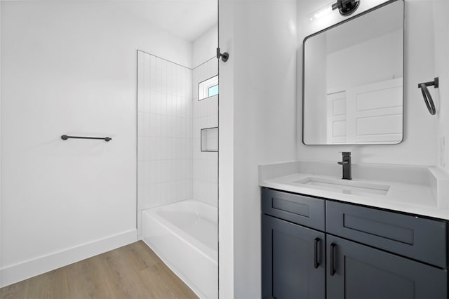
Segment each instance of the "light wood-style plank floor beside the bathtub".
M0 289L1 298L198 298L142 241Z

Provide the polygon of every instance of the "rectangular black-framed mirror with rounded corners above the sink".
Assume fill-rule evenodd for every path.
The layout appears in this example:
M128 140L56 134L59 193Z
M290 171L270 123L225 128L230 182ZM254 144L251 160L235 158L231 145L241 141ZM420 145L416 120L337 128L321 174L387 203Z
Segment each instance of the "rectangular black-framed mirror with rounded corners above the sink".
M304 39L304 145L403 140L403 24L389 1Z

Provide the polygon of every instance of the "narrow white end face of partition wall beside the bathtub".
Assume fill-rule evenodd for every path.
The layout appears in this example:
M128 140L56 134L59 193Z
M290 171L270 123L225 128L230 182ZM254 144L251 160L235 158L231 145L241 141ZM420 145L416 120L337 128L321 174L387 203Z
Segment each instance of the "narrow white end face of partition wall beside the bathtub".
M218 1L218 41L234 53L234 0ZM234 57L219 60L218 298L234 298Z

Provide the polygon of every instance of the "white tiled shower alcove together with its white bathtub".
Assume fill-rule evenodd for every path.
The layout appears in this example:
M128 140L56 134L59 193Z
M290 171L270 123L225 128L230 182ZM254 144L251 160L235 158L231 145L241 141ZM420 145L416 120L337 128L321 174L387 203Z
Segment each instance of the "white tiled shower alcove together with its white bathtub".
M217 72L215 58L189 69L138 51L138 235L201 298L218 295L217 152L201 151L218 95L198 88Z

